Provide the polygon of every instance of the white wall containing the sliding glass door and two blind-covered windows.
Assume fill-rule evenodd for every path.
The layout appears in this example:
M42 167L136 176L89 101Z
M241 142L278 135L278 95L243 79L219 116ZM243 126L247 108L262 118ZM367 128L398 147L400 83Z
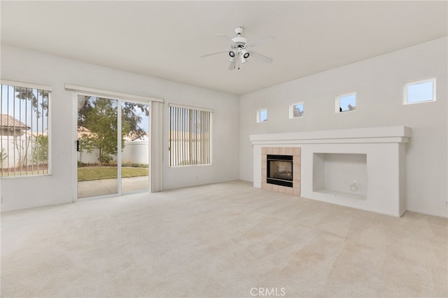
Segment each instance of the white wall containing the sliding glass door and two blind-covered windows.
M13 210L72 201L76 148L73 134L75 111L73 94L64 84L94 87L165 99L163 142L164 189L214 183L238 178L238 97L214 90L168 80L107 69L38 52L1 46L1 78L52 86L51 152L52 175L28 178L2 178L1 210ZM214 109L213 164L178 169L168 167L168 104ZM155 141L155 140L153 140ZM63 151L66 154L63 154ZM231 158L233 157L233 158Z

